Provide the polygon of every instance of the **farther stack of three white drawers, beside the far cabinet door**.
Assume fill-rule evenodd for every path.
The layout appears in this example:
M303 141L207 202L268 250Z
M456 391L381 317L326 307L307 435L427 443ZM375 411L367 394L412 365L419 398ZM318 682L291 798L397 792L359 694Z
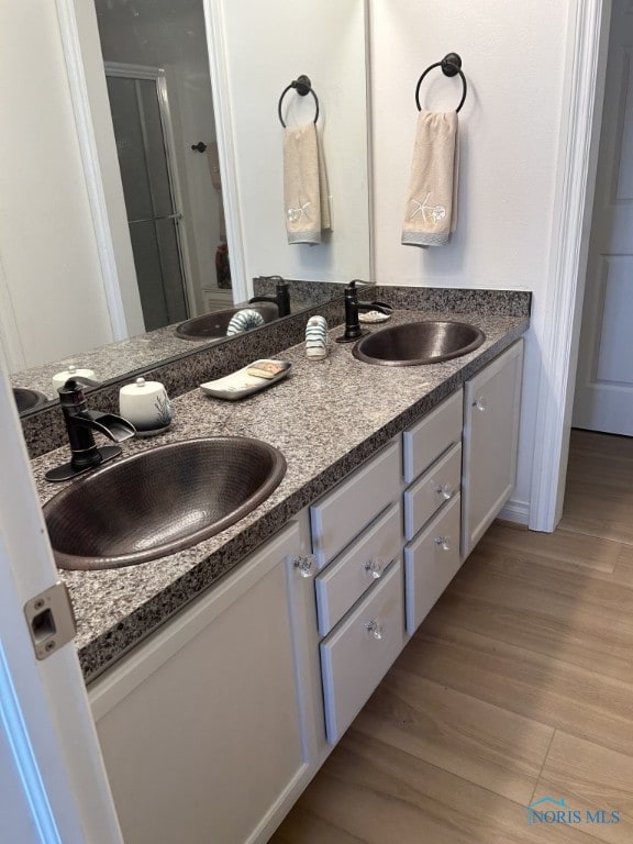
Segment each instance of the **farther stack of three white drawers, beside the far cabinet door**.
M462 390L403 433L407 633L420 626L459 566Z

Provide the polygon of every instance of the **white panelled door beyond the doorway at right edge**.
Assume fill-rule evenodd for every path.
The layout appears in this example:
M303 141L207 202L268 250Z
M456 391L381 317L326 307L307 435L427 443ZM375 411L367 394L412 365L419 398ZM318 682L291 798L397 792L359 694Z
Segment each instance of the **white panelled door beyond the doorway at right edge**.
M614 0L573 424L633 435L633 1Z

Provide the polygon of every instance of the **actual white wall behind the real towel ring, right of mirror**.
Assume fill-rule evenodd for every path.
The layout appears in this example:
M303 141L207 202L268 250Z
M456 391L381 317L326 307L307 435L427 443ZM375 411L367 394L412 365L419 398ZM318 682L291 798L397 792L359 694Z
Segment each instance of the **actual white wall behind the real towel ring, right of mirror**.
M533 291L514 493L525 519L571 2L371 0L376 280ZM402 246L415 84L449 52L462 56L468 82L459 112L457 232L446 246ZM458 77L437 68L422 82L420 100L448 111L460 93Z

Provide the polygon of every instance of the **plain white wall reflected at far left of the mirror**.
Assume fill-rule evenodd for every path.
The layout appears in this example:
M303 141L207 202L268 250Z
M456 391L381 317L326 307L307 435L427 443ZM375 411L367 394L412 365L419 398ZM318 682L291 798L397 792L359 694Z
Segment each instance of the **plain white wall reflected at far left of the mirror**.
M0 307L25 368L112 341L53 2L0 3Z

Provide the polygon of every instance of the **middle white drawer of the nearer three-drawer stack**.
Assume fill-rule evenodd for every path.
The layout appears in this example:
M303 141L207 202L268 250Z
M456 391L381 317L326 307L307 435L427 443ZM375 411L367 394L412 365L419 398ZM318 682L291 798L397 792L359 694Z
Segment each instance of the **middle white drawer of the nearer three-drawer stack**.
M363 537L316 577L319 633L326 636L397 556L401 542L400 507L392 504Z

